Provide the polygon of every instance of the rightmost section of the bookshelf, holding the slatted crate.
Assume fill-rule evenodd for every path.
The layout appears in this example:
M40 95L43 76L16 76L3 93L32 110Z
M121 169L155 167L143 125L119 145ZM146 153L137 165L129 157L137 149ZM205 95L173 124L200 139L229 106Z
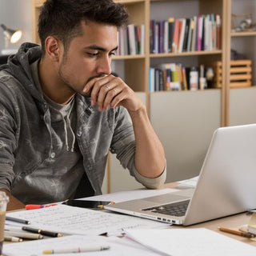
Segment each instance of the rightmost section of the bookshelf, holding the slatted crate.
M256 22L256 1L255 0L228 0L228 23L230 30L227 34L227 46L230 50L236 50L242 54L246 59L252 61L252 86L246 88L230 88L226 86L227 104L226 104L226 125L242 125L246 123L256 122L255 116L255 97L256 97L256 30L235 31L234 25L238 26L242 18L238 17L237 22L234 22L232 14L250 14L253 23ZM235 23L235 24L234 24ZM233 30L232 30L233 29ZM232 56L227 55L227 62L231 60ZM229 74L230 72L228 72ZM229 81L229 78L227 78Z

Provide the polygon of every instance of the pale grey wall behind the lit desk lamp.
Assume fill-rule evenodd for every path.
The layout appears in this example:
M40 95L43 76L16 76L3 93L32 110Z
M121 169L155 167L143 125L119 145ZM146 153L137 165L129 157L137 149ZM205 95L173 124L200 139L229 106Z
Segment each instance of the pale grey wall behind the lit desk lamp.
M22 38L11 45L9 49L16 49L22 42L32 41L32 0L0 0L0 24L10 29L22 30ZM0 28L0 51L5 48L5 38Z

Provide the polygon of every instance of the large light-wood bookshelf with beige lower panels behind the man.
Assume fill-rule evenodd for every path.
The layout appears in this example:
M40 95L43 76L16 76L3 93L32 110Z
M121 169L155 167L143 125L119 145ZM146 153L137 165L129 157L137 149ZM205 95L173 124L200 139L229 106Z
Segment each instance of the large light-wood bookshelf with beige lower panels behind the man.
M34 0L34 42L38 42L36 21L44 0ZM145 26L144 54L119 55L113 58L113 70L146 102L150 120L166 150L167 182L197 175L211 136L219 126L256 122L256 86L230 89L230 50L236 41L255 45L256 32L231 33L232 8L238 12L247 8L256 10L256 0L115 0L123 3L129 14L129 23ZM235 7L234 7L235 6ZM249 7L248 7L249 6ZM237 11L235 10L235 11ZM254 11L254 21L255 21ZM181 53L150 53L150 20L192 18L195 15L219 14L222 21L222 42L218 50L193 50ZM245 47L246 48L246 47ZM248 47L247 47L248 48ZM256 60L256 51L250 55ZM209 65L222 62L221 88L207 90L180 90L149 92L150 66L175 62L186 66ZM255 71L255 65L253 64ZM256 85L255 78L254 85ZM247 100L246 97L249 97ZM249 114L250 118L244 118ZM106 187L108 192L138 187L133 178L126 177L122 166L110 157ZM111 171L110 171L111 170ZM125 186L122 181L126 181ZM121 183L120 183L121 182Z

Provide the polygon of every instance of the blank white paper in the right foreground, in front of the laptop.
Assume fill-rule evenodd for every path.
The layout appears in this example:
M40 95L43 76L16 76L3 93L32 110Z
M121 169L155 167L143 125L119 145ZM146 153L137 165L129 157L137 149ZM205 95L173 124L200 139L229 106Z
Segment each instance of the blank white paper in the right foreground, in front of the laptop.
M147 248L171 256L255 256L256 247L223 234L198 229L125 230L126 235Z

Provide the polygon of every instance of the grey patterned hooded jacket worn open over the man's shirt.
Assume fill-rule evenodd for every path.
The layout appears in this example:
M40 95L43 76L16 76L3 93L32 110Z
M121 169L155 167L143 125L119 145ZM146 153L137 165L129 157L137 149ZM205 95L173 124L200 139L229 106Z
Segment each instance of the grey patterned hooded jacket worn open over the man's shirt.
M40 46L24 43L18 54L0 66L0 188L10 190L26 203L34 202L31 198L37 198L37 194L30 197L30 187L24 179L51 158L54 148L49 104L31 74L31 63L40 58ZM90 106L88 97L76 94L74 101L77 120L74 135L93 194L102 193L109 150L117 154L122 166L130 170L138 182L150 188L162 184L166 172L159 178L145 178L135 169L134 130L123 107L99 112ZM40 179L40 174L33 177ZM68 178L62 179L61 186L65 188L69 182ZM47 190L50 194L50 187ZM38 190L38 194L43 198L42 190ZM62 198L49 200L54 199Z

